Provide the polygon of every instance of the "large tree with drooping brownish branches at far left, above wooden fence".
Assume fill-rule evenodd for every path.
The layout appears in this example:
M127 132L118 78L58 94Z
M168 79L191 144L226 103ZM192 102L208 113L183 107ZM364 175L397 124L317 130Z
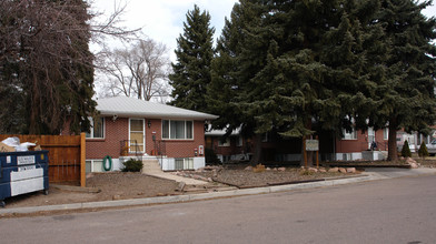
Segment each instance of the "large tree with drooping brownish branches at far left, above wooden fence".
M88 3L11 1L0 8L0 132L89 130L95 113ZM2 72L2 71L6 72Z

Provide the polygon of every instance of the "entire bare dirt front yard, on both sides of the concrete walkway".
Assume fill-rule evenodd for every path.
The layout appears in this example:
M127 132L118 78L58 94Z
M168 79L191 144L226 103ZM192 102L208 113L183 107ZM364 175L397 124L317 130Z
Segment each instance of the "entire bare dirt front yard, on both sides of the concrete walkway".
M178 183L171 180L158 179L140 173L93 173L87 179L87 189L80 187L75 191L68 187L51 186L49 194L34 192L6 199L6 207L42 206L69 203L142 199L165 195L195 194L214 191L225 191L229 185L238 187L268 186L275 184L295 183L299 181L323 180L326 177L337 177L343 173L315 173L301 171L300 169L286 169L284 171L270 170L259 173L247 171L240 167L222 169L204 172L186 172L188 175L199 175L205 179L214 179L206 185L186 185L185 191L178 191ZM217 183L219 182L219 183ZM235 189L235 187L234 187ZM79 191L80 190L80 191ZM99 190L99 191L96 191Z

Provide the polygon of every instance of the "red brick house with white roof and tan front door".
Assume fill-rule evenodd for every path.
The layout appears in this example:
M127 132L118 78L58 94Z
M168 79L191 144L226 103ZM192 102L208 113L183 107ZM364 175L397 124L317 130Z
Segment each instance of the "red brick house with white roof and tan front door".
M158 159L164 171L205 166L205 121L216 115L125 96L97 103L100 114L87 133L87 172L102 171L106 155L112 170L132 156Z

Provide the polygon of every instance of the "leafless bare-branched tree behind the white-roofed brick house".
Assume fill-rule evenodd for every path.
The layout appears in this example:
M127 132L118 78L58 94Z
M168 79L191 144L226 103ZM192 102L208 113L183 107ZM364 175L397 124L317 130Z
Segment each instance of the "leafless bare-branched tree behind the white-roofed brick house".
M131 47L106 50L105 78L99 79L102 96L136 96L150 101L169 94L167 48L151 39L138 40Z

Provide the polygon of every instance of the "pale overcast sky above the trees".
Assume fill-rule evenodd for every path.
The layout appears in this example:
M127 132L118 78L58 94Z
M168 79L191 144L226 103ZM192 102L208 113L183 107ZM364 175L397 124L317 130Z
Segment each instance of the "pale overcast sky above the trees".
M175 61L174 50L177 48L176 39L182 33L186 13L197 4L201 11L210 13L211 26L215 27L215 39L220 35L225 17L229 17L231 9L238 0L123 0L127 9L123 16L123 26L129 28L143 28L142 31L151 39L165 43L169 49L171 60ZM113 11L115 2L120 0L93 0L92 7L106 13ZM426 16L436 16L433 6L424 12Z

